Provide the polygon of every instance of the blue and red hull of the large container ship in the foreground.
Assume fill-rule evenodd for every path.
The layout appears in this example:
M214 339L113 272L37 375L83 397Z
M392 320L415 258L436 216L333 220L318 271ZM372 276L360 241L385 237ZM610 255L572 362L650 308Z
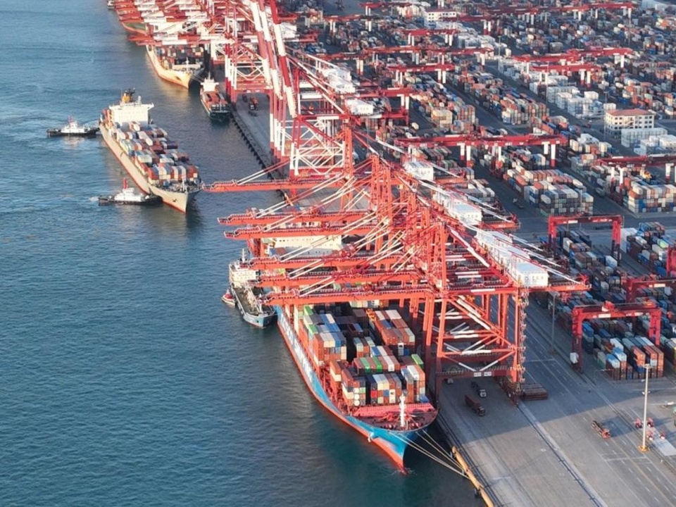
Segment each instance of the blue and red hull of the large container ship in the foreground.
M385 451L385 453L392 458L392 461L394 461L399 468L403 468L403 453L406 451L406 446L408 446L408 442L411 442L418 437L419 432L423 430L423 428L411 431L386 430L365 423L362 420L340 411L325 392L322 382L308 360L308 357L303 350L303 346L298 339L298 335L289 322L287 315L280 306L274 306L273 308L275 308L275 311L277 312L277 325L282 332L284 341L287 343L289 351L291 351L294 361L296 361L296 365L303 375L303 380L305 380L315 398L337 418L363 434L368 438L369 442L373 442L379 446L380 449Z

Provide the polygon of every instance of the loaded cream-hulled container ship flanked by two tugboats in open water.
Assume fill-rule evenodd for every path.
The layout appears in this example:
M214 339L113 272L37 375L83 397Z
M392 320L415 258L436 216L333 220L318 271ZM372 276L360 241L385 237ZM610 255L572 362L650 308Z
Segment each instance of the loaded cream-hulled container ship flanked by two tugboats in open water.
M154 104L143 104L133 95L134 90L126 90L119 104L102 111L101 137L144 194L159 196L185 213L202 188L198 169L165 130L153 125Z

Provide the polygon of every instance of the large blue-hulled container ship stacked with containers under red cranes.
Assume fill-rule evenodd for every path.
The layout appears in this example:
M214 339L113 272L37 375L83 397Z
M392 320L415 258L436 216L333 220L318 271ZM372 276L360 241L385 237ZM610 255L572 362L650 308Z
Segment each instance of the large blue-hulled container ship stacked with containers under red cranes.
M396 309L275 306L303 380L320 403L403 467L404 451L437 417L425 395L415 334Z

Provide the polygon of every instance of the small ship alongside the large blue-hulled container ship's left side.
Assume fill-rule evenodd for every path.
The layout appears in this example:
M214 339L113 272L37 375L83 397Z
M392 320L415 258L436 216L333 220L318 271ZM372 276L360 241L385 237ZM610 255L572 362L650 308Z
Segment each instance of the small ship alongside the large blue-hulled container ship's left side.
M242 258L232 261L228 268L230 296L244 320L255 327L268 327L274 324L277 321L277 313L271 306L261 303L263 291L252 284L258 277L258 272L246 265L246 253L242 251Z

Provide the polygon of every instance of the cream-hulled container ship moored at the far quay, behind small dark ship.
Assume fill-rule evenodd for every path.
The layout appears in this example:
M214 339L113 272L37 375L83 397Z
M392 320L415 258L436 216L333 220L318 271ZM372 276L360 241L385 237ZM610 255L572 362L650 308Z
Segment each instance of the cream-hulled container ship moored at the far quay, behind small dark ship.
M188 88L204 72L201 46L146 45L146 53L157 75L163 80Z

